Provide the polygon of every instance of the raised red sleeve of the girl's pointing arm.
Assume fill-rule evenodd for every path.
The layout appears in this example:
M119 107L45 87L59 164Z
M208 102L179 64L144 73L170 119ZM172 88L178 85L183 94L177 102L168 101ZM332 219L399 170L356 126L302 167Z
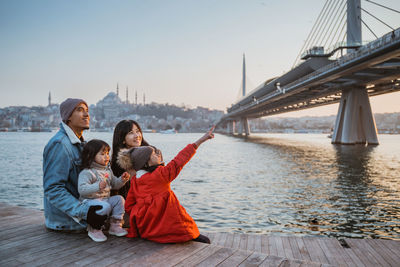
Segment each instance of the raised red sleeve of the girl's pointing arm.
M197 146L195 144L189 144L184 149L182 149L178 155L171 160L167 166L164 168L159 168L161 171L161 176L167 179L168 182L172 182L180 173L183 166L189 162L189 160L196 153ZM157 171L157 170L156 170Z

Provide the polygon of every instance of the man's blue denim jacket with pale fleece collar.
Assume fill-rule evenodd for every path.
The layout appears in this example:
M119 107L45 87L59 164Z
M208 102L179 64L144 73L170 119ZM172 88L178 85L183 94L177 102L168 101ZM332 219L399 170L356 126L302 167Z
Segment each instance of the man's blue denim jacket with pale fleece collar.
M89 206L79 201L78 175L82 145L64 123L43 151L44 216L53 230L86 228ZM78 223L79 222L79 223Z

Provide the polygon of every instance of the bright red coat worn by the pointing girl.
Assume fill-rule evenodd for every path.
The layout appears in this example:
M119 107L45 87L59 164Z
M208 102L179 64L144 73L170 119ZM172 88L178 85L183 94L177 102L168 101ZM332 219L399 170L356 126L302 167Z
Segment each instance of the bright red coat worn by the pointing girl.
M196 153L187 145L166 166L132 178L125 210L130 213L128 237L142 237L159 243L185 242L200 233L196 223L171 190L171 182Z

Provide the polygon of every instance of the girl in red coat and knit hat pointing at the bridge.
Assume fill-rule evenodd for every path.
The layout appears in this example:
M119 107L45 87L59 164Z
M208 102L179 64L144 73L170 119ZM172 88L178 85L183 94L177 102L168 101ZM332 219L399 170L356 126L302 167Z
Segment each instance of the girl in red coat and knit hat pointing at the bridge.
M214 137L214 127L193 144L187 145L166 166L161 151L141 146L121 151L118 162L125 169L136 170L125 203L130 213L128 237L142 237L159 243L189 240L210 243L200 235L194 220L182 207L171 190L170 183L196 153L196 149Z

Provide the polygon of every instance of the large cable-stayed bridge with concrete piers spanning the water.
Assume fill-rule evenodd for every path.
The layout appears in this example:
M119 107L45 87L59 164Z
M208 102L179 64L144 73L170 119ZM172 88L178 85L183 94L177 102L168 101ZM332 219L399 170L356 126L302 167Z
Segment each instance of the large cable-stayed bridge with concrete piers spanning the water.
M400 91L400 28L362 44L360 0L346 5L346 42L328 51L321 46L305 50L300 64L248 94L243 58L243 96L218 125L249 135L248 119L340 102L332 143L379 144L369 97Z

